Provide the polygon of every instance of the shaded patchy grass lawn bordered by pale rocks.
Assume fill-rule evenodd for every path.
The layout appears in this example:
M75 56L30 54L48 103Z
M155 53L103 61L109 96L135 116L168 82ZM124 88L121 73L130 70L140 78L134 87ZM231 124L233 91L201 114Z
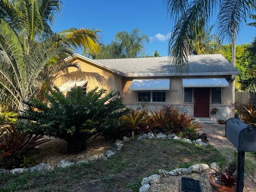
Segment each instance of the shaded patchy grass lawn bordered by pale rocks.
M108 160L45 173L6 174L0 178L0 191L137 192L142 178L158 174L159 169L189 167L198 162L210 164L221 158L211 145L204 147L169 139L130 140Z

